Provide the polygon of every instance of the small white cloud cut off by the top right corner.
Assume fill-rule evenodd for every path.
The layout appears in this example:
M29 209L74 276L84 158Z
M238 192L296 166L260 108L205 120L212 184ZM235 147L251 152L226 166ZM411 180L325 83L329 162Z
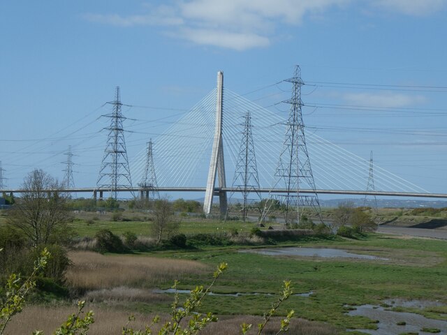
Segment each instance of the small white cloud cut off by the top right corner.
M445 0L375 0L374 6L405 15L429 15L446 6Z

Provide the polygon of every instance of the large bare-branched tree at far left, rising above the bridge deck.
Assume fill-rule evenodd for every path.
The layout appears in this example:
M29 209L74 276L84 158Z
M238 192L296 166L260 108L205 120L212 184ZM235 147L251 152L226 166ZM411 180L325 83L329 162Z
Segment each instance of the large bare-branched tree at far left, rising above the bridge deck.
M68 195L61 192L61 184L36 169L25 177L22 189L22 197L11 209L8 223L23 232L33 246L66 238L71 214L66 206Z

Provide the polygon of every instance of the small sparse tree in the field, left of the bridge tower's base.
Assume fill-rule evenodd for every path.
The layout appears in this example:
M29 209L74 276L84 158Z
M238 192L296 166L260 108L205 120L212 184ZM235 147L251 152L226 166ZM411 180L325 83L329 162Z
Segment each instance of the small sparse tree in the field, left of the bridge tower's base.
M154 202L152 216L152 234L154 234L158 243L160 243L161 239L170 237L170 235L177 232L179 223L171 221L173 208L167 199Z

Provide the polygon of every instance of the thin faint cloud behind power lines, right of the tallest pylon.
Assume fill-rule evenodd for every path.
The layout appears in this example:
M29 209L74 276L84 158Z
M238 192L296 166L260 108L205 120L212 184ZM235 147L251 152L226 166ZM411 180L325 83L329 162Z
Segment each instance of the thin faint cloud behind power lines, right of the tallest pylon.
M344 101L357 106L366 107L411 107L412 105L425 102L425 96L409 95L384 91L381 93L351 93L343 96Z

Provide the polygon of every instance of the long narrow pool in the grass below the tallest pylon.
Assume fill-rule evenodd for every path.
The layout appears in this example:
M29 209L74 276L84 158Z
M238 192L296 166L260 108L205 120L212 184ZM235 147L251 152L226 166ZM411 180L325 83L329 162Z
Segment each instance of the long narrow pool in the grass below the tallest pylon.
M250 249L241 250L241 253L260 253L261 255L270 256L304 256L304 257L321 257L321 258L358 258L363 260L386 260L372 255L361 255L358 253L350 253L342 249L331 248L268 248L268 249Z

